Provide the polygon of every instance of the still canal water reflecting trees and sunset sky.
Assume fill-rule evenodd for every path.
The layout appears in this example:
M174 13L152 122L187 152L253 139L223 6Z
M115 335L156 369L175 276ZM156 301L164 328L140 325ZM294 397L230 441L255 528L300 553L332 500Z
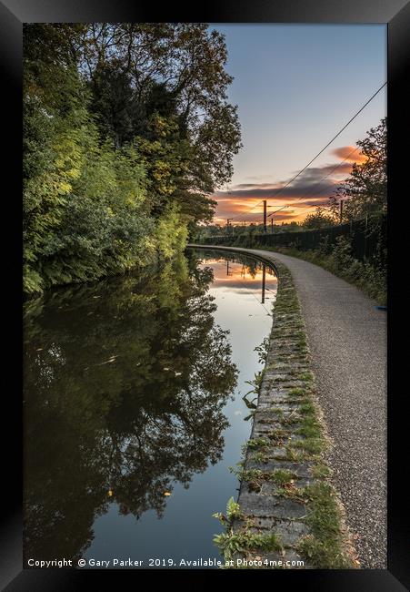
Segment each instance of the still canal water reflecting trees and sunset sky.
M275 293L259 261L187 250L26 304L25 561L221 559Z

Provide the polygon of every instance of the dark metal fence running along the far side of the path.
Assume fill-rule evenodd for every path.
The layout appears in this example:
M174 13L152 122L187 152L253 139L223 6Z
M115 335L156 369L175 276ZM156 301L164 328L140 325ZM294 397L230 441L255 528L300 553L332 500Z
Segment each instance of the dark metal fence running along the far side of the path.
M232 231L232 227L230 229ZM338 237L346 237L352 246L352 255L357 260L377 260L385 263L387 220L357 219L330 226L321 230L302 230L297 232L274 232L273 234L234 234L206 237L204 244L235 245L237 247L293 247L298 250L322 249L330 252Z

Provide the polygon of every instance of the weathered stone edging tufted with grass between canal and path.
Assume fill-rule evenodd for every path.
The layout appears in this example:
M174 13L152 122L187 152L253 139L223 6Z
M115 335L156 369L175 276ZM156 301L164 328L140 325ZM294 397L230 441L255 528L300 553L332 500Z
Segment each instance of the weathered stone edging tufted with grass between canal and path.
M215 544L228 567L354 568L355 549L324 459L330 443L294 281L282 262L261 260L278 276L273 326L251 438L235 471L238 502L231 498L227 515L215 515L225 525Z

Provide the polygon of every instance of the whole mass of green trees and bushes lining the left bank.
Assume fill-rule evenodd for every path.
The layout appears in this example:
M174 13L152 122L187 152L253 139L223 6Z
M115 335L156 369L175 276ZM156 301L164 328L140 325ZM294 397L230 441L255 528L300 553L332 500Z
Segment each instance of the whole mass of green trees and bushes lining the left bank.
M26 292L170 257L240 148L224 37L195 24L24 31Z

